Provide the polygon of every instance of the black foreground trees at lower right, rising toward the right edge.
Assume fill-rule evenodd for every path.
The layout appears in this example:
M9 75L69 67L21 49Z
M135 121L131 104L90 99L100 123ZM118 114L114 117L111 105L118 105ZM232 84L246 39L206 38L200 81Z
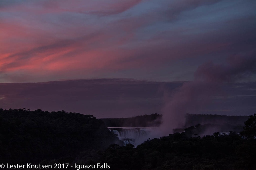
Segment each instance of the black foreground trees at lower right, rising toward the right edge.
M182 133L148 139L137 148L111 145L94 155L95 162L108 162L111 169L136 170L254 170L256 169L256 114L244 122L241 135L219 132L191 137L201 125L190 126Z

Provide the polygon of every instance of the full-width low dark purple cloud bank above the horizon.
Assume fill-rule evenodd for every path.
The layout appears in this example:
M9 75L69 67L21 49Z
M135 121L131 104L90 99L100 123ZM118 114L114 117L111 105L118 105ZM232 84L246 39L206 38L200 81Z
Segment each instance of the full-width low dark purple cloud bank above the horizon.
M223 93L216 91L212 83L206 86L205 83L194 81L153 82L130 79L0 83L0 108L65 110L93 114L98 118L175 111L179 114L165 115L165 120L173 116L171 122L178 125L183 120L183 112L250 115L255 110L255 89L255 83L231 83L222 88L225 91ZM174 99L172 102L169 101L170 97ZM212 98L210 103L207 98ZM166 110L162 110L164 104L167 104Z

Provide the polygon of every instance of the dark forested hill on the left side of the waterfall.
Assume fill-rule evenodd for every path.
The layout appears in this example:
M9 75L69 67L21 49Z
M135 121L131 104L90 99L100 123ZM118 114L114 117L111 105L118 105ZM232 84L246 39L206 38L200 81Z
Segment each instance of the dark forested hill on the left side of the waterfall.
M0 109L0 160L39 163L73 160L81 151L121 141L92 115L40 109Z

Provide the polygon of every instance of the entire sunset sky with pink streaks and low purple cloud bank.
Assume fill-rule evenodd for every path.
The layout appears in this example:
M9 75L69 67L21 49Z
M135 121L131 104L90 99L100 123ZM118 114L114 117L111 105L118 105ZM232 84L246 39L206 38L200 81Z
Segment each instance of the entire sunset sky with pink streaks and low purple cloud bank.
M251 115L255 9L254 0L1 0L0 108Z

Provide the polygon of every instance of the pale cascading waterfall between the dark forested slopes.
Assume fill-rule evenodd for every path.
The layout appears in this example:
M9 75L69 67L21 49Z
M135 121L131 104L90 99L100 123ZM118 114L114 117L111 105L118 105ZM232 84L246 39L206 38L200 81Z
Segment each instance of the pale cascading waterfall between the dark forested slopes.
M124 145L131 143L135 147L147 140L151 132L146 127L109 127L109 129L123 141Z

